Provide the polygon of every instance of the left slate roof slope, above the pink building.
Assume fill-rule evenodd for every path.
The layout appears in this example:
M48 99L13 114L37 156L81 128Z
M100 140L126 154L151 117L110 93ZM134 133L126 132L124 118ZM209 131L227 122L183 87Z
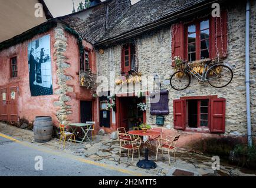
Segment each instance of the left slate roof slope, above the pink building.
M106 18L107 5L109 6L108 20ZM106 28L111 28L122 18L130 6L130 0L107 0L84 11L58 19L71 26L83 39L94 44L103 38Z

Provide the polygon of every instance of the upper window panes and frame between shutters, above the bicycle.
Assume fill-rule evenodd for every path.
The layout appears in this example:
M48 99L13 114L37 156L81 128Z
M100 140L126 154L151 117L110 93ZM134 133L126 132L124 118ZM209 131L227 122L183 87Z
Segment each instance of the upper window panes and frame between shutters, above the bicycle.
M188 61L209 58L209 19L188 25Z

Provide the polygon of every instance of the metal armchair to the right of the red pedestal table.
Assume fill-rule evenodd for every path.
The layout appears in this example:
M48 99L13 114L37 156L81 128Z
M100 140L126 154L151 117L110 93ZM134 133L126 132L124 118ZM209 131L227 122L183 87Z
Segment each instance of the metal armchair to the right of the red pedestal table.
M168 158L169 158L169 164L170 164L170 151L173 151L174 153L174 160L176 161L176 156L175 156L175 152L176 152L176 143L179 139L180 135L176 135L176 136L166 136L165 139L158 139L157 140L157 147L156 147L156 161L157 161L157 155L158 155L158 149L161 148L162 149L162 157L163 157L163 150L167 150L168 151Z

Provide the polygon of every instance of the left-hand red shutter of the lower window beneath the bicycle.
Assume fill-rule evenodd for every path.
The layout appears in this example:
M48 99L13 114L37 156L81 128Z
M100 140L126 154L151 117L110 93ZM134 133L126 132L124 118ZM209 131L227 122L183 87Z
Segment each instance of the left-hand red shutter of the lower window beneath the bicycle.
M185 126L185 100L173 100L173 126L175 129L186 128Z

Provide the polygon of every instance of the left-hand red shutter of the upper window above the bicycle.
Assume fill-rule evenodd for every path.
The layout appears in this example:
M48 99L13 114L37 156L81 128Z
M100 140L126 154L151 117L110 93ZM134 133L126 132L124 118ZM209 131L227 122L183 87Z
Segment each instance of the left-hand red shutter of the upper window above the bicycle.
M174 24L172 26L172 59L175 56L180 56L184 59L184 25ZM172 62L172 66L175 66L175 63Z

